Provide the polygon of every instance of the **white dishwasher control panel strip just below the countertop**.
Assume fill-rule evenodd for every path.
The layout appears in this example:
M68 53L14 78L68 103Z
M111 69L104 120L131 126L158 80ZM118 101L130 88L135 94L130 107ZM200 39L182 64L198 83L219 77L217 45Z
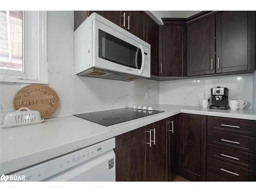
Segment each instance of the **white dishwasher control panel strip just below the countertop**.
M80 150L56 157L8 175L25 176L25 181L42 181L82 162L113 150L115 138L111 138Z

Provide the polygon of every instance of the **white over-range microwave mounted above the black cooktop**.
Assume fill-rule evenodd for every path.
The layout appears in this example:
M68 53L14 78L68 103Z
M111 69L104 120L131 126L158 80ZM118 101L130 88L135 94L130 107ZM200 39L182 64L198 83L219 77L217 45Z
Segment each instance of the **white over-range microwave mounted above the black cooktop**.
M75 30L75 73L132 81L150 77L150 44L91 14Z

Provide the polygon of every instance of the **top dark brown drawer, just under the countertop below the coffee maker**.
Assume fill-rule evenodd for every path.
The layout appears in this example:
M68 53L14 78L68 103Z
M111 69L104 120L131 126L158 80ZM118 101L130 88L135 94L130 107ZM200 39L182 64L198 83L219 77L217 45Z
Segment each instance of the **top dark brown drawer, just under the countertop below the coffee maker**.
M249 136L250 135L250 121L244 120L244 119L208 116L207 117L207 129Z

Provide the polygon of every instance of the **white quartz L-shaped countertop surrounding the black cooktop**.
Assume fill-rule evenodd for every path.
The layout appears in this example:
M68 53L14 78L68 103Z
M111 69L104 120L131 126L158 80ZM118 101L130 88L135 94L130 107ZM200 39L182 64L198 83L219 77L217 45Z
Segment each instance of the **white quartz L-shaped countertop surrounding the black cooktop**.
M76 151L179 113L256 120L256 111L252 110L210 110L199 106L169 104L152 106L155 110L165 112L111 126L71 115L50 118L40 124L1 128L0 175Z

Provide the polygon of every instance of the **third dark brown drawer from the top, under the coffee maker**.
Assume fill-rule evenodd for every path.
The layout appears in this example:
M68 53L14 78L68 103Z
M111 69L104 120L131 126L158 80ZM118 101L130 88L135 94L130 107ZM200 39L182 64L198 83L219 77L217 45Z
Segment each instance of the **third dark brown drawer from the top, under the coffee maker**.
M232 150L231 148L207 144L207 156L232 163L244 168L249 168L249 153Z

